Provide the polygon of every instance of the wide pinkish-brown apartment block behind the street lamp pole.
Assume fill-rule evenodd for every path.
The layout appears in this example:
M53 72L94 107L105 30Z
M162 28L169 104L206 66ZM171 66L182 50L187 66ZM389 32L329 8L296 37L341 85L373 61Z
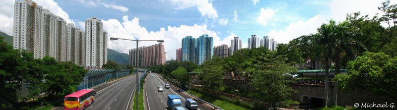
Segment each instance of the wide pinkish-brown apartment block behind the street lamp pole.
M136 59L138 57L138 66L149 67L154 65L165 64L165 52L163 43L155 44L149 47L139 47L138 55L136 56L136 49L129 50L130 65L136 66Z

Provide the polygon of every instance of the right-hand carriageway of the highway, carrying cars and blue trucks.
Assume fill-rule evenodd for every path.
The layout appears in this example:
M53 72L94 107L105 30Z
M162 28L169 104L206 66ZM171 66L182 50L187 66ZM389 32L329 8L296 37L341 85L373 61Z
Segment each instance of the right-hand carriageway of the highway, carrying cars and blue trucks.
M151 76L153 75L153 77ZM163 92L158 92L158 86L163 86ZM177 94L182 98L182 106L185 106L185 99L188 96L182 94L179 91L175 91L176 88L173 86L170 89L165 89L165 81L159 76L159 74L148 73L146 76L145 83L145 110L167 110L167 95ZM199 104L198 110L212 110L206 106ZM186 107L184 107L188 110Z

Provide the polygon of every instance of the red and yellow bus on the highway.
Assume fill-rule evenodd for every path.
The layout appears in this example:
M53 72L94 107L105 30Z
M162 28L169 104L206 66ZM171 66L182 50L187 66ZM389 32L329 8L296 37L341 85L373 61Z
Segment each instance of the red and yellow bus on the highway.
M85 110L95 101L95 90L83 89L65 96L65 110Z

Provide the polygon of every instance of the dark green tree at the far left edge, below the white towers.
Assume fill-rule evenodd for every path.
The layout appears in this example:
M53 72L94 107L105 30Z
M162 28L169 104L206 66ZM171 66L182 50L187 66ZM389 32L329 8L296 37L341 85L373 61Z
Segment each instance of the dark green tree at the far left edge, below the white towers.
M19 108L17 100L23 77L28 71L24 57L25 51L13 50L12 46L3 42L0 37L0 98L9 102L12 107Z

